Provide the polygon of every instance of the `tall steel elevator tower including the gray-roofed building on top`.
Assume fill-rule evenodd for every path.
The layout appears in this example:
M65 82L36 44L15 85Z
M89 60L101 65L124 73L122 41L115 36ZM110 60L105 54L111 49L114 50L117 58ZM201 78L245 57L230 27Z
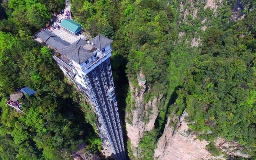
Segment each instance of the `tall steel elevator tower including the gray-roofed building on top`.
M92 104L115 158L125 160L122 128L110 65L112 40L99 34L92 40L85 41L79 38L70 43L63 40L66 36L58 37L49 30L40 32L38 36L58 52L53 56L57 65L76 87L85 93L87 100Z

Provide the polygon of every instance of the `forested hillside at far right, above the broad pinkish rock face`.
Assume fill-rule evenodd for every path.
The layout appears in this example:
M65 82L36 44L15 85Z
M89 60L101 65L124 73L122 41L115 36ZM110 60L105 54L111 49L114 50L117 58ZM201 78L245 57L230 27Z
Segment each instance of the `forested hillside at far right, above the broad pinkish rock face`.
M230 27L209 28L201 55L170 108L178 115L185 109L188 119L196 122L190 128L205 131L200 137L235 140L252 156L256 156L255 13Z

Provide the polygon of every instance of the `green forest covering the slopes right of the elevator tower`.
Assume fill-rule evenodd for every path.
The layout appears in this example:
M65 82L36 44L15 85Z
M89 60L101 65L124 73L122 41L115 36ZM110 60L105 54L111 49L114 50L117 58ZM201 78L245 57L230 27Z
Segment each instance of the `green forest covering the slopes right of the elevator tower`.
M211 135L202 136L203 138L212 141L216 136L223 136L235 140L246 146L253 156L256 135L253 19L255 11L249 12L247 7L244 13L249 14L242 22L235 22L229 19L236 1L221 4L222 9L216 17L213 10L204 10L203 2L195 2L194 7L199 8L196 19L192 15L185 18L179 15L181 1L168 1L169 5L166 1L104 1L104 9L100 7L100 2L103 1L91 1L89 5L85 2L83 7L86 10L90 8L93 16L82 12L79 15L77 12L77 19L83 19L87 30L94 34L95 30L100 32L100 27L97 26L102 23L96 17L103 14L102 17L106 19L102 24L109 24L115 31L115 56L119 54L128 60L126 73L132 84L139 87L136 77L140 69L146 75L147 85L151 89L144 95L144 101L152 100L159 94L166 97L156 123L156 130L160 132L155 134L156 131L153 130L141 139L140 158L152 157L156 139L163 130L168 108L170 114L177 115L181 115L186 109L190 114L189 119L198 121L191 125L195 132L213 132ZM113 6L120 5L116 8L119 10L119 23L115 23L117 18L111 21L111 15L106 11L106 8L111 8L106 5L110 2ZM183 10L193 10L190 2L182 3ZM251 5L253 6L254 2ZM87 21L83 16L88 16ZM183 19L186 21L182 22ZM206 21L206 26L211 26L205 32L201 29L203 20ZM119 28L116 29L116 26ZM186 36L179 38L179 32L186 33ZM201 37L201 48L188 45L188 41L193 37ZM118 62L114 61L115 63ZM179 88L181 89L176 92ZM176 104L169 106L177 97ZM126 101L126 112L131 112L134 109L129 105L132 100L128 96ZM213 138L209 139L209 136ZM207 148L215 150L212 143ZM214 153L216 152L215 150Z

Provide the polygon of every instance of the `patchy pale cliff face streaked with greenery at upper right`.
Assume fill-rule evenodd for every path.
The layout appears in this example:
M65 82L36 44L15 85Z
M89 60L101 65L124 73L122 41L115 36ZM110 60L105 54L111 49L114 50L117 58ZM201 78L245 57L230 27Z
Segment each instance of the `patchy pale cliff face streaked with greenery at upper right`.
M180 31L178 43L185 39L185 44L191 47L198 47L201 42L201 35L206 30L207 27L211 26L211 20L217 17L220 11L220 6L222 5L222 0L204 0L204 1L181 1L179 9L180 12L178 17L178 25L180 26L193 26L193 21L198 21L199 28L198 31ZM212 11L211 15L202 16L202 12L210 9ZM201 23L200 23L201 22ZM181 27L182 28L182 27Z

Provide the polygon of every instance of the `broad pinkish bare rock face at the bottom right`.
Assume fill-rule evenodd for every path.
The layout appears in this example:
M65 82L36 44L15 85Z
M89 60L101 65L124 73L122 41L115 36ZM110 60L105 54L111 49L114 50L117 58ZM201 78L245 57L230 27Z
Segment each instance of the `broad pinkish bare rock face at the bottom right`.
M209 141L200 141L196 138L195 133L189 131L189 123L185 120L186 116L188 116L188 113L184 111L175 127L170 125L175 121L175 118L171 119L168 117L163 135L158 140L154 159L226 159L226 155L249 157L241 152L243 147L236 142L227 142L222 138L217 138L214 143L224 154L218 157L211 156L210 152L206 149L206 145L209 144Z

